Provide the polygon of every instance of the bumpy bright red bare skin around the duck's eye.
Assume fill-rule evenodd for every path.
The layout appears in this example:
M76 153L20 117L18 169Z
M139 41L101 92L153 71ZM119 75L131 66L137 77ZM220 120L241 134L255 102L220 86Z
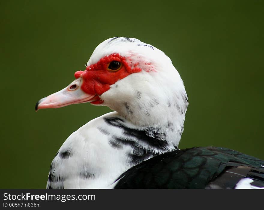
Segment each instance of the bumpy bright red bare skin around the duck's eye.
M129 58L127 58L129 60ZM116 70L111 69L110 64L119 63L120 67ZM97 63L87 66L85 71L77 71L74 76L76 79L83 79L81 89L88 94L97 96L97 100L92 104L100 104L103 101L98 97L110 89L110 85L127 77L128 75L140 72L141 69L128 64L125 57L118 53L101 58Z

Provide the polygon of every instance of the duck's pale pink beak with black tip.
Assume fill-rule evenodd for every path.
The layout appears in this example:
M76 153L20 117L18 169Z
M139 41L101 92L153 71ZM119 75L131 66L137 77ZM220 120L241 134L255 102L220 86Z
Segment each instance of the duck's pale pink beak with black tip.
M95 95L85 93L81 89L81 85L82 78L74 80L70 85L62 90L40 99L35 106L35 110L38 111L39 109L46 108L60 108L70 104L94 101L95 99L93 100L93 98Z

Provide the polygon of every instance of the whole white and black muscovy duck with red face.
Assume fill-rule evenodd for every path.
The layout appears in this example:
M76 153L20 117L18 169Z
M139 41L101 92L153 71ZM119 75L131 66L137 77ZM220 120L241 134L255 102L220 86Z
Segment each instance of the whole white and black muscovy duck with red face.
M264 188L264 161L226 148L179 150L188 98L170 58L135 38L95 48L84 71L35 110L90 102L114 112L73 132L46 187Z

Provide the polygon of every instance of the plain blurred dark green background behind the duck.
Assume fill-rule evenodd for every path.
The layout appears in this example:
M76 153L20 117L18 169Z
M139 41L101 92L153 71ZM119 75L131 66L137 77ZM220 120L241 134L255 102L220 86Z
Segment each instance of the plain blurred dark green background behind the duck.
M180 148L223 146L264 159L263 1L1 1L0 188L45 188L65 139L110 109L35 112L107 38L163 50L189 96Z

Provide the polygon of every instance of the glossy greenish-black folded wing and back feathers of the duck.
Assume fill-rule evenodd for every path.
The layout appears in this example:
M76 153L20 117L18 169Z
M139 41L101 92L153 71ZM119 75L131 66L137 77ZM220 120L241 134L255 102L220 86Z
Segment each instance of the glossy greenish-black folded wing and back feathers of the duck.
M232 189L241 178L264 186L264 161L237 151L199 147L165 153L122 174L115 188Z

